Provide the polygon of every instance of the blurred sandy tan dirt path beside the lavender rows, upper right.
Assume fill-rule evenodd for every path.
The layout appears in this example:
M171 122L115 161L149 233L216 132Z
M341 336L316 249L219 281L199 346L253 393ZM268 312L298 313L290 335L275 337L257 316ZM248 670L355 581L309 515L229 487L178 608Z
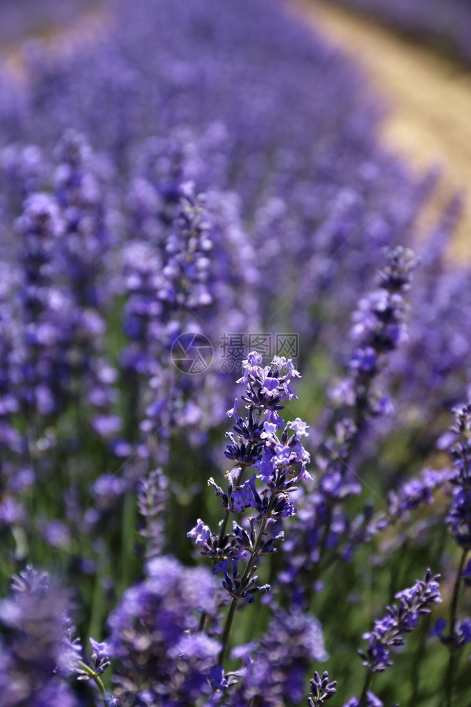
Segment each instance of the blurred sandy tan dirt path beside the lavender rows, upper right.
M294 5L364 66L390 102L383 139L419 168L444 167L433 218L455 189L467 206L453 256L471 259L471 70L357 13L316 0Z

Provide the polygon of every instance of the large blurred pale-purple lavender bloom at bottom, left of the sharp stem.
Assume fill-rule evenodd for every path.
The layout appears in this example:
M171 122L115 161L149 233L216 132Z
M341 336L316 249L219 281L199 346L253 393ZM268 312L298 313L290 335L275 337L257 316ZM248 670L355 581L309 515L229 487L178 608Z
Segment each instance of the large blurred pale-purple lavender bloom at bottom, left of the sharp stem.
M215 612L208 571L184 568L171 557L148 562L144 582L126 590L109 617L120 704L141 699L163 706L210 693L209 670L220 644L198 631L201 610Z

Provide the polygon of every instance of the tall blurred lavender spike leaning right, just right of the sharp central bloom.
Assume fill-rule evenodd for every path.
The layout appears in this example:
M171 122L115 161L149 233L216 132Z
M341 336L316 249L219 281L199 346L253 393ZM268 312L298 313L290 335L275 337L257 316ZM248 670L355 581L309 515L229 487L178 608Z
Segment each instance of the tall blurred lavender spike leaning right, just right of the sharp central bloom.
M360 300L354 313L350 376L332 392L334 409L328 411L331 431L321 438L315 457L321 474L314 490L304 498L299 523L294 525L288 545L286 586L292 587L293 581L296 582L295 600L305 607L311 602L326 553L338 548L342 537L350 534L339 552L342 559L349 559L360 537L371 537L385 525L382 519L372 524L371 513L366 510L359 519L362 532L358 534L357 520L352 522L344 507L348 498L362 491L352 455L366 421L390 411L387 397L374 390L374 383L391 351L405 337L404 295L417 259L403 247L387 251L386 258L385 267L376 276L378 288Z

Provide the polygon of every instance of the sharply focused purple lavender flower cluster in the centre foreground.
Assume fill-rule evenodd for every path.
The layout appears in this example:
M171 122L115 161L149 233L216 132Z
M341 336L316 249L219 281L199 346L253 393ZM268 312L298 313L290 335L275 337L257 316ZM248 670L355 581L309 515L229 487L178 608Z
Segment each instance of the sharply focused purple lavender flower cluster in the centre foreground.
M244 377L239 383L246 386L245 395L241 396L246 416L239 415L238 398L228 411L236 423L233 431L226 435L229 442L224 453L235 464L226 475L227 489L224 491L217 486L212 478L208 481L221 500L225 518L218 532L211 532L198 520L188 533L202 548L201 554L213 559L214 571L224 571L223 585L235 600L247 597L252 601L254 592L269 589L268 585L256 585L253 561L275 551L274 543L282 539L283 534L270 534L266 527L270 522L297 513L290 493L296 491L298 481L310 478L306 471L309 454L302 444L302 438L307 436L306 423L297 418L285 424L280 416L282 402L296 397L291 380L299 377L299 373L291 359L275 356L270 366L261 363L262 357L256 351L243 363ZM244 481L251 467L255 467L256 473ZM234 520L232 533L226 534L229 515L243 513L247 508L256 510L247 530ZM257 523L260 524L258 530ZM239 561L247 556L251 557L249 569L241 575Z

